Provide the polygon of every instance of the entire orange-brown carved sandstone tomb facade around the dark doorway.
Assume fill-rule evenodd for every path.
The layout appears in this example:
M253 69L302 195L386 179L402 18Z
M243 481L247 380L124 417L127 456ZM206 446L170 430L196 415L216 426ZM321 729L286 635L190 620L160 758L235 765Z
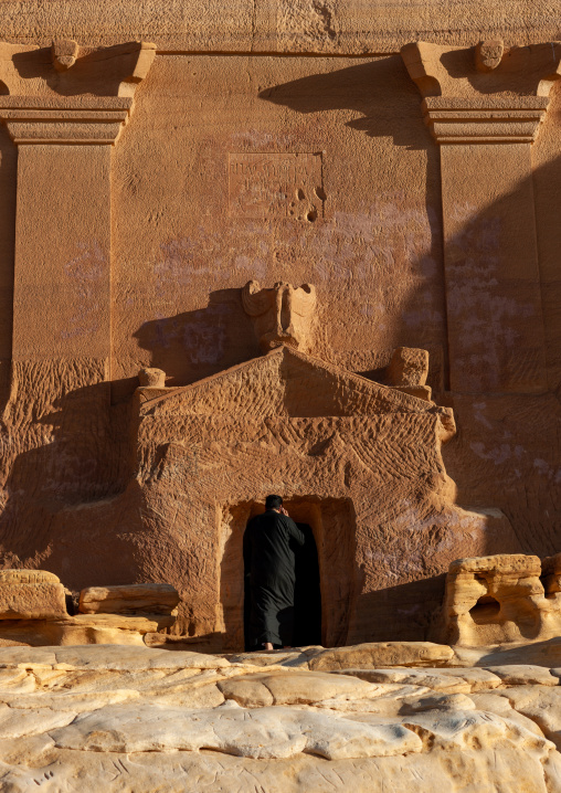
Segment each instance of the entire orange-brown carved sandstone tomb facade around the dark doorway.
M268 491L314 644L425 641L453 560L559 550L555 15L372 8L0 3L0 567L169 581L240 653Z

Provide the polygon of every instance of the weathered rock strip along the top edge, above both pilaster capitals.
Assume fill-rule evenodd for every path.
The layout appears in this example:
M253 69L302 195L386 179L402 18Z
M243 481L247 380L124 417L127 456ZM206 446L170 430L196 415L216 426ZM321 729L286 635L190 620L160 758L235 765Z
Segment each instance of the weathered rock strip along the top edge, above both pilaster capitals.
M494 39L508 32L520 44L554 40L558 35L554 13L543 12L522 0L509 0L500 9L486 11L473 0L468 3L453 0L445 9L427 8L414 0L407 3L405 11L394 2L387 2L375 6L373 18L357 0L326 4L324 13L304 2L283 0L273 7L268 0L260 0L253 8L247 0L236 0L229 7L230 14L224 14L223 4L215 1L201 9L192 0L187 4L168 0L163 19L155 19L149 3L131 0L119 6L118 14L109 2L97 7L82 4L72 20L62 0L54 0L47 8L32 0L23 20L18 9L14 0L8 0L0 17L10 41L27 41L32 31L44 46L57 35L74 35L78 41L108 45L135 39L139 31L149 30L158 50L172 53L389 55L402 44L423 38L427 30L435 41L462 47L473 47L481 31L490 31Z

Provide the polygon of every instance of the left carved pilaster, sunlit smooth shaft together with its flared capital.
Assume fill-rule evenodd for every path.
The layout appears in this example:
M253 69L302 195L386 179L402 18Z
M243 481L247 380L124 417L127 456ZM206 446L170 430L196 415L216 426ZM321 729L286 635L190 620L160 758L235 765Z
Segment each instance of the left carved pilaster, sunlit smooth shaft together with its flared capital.
M95 361L109 379L112 147L156 50L15 50L0 44L0 119L18 145L12 361Z

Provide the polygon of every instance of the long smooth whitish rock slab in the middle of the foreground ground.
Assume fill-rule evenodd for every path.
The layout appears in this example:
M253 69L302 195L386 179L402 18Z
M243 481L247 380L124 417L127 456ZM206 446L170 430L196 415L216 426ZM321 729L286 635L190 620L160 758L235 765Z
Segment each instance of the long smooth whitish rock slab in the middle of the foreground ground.
M287 708L211 712L152 706L107 706L52 730L57 748L146 752L214 749L247 758L288 758L303 751L328 760L420 751L419 737L400 725L357 725Z

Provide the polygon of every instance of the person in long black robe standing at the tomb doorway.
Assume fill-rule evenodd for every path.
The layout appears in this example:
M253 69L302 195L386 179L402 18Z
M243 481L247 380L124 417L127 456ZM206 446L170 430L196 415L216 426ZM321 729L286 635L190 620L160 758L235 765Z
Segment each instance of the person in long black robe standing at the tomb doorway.
M304 542L280 496L267 496L265 512L250 520L243 538L252 649L292 646L295 548Z

